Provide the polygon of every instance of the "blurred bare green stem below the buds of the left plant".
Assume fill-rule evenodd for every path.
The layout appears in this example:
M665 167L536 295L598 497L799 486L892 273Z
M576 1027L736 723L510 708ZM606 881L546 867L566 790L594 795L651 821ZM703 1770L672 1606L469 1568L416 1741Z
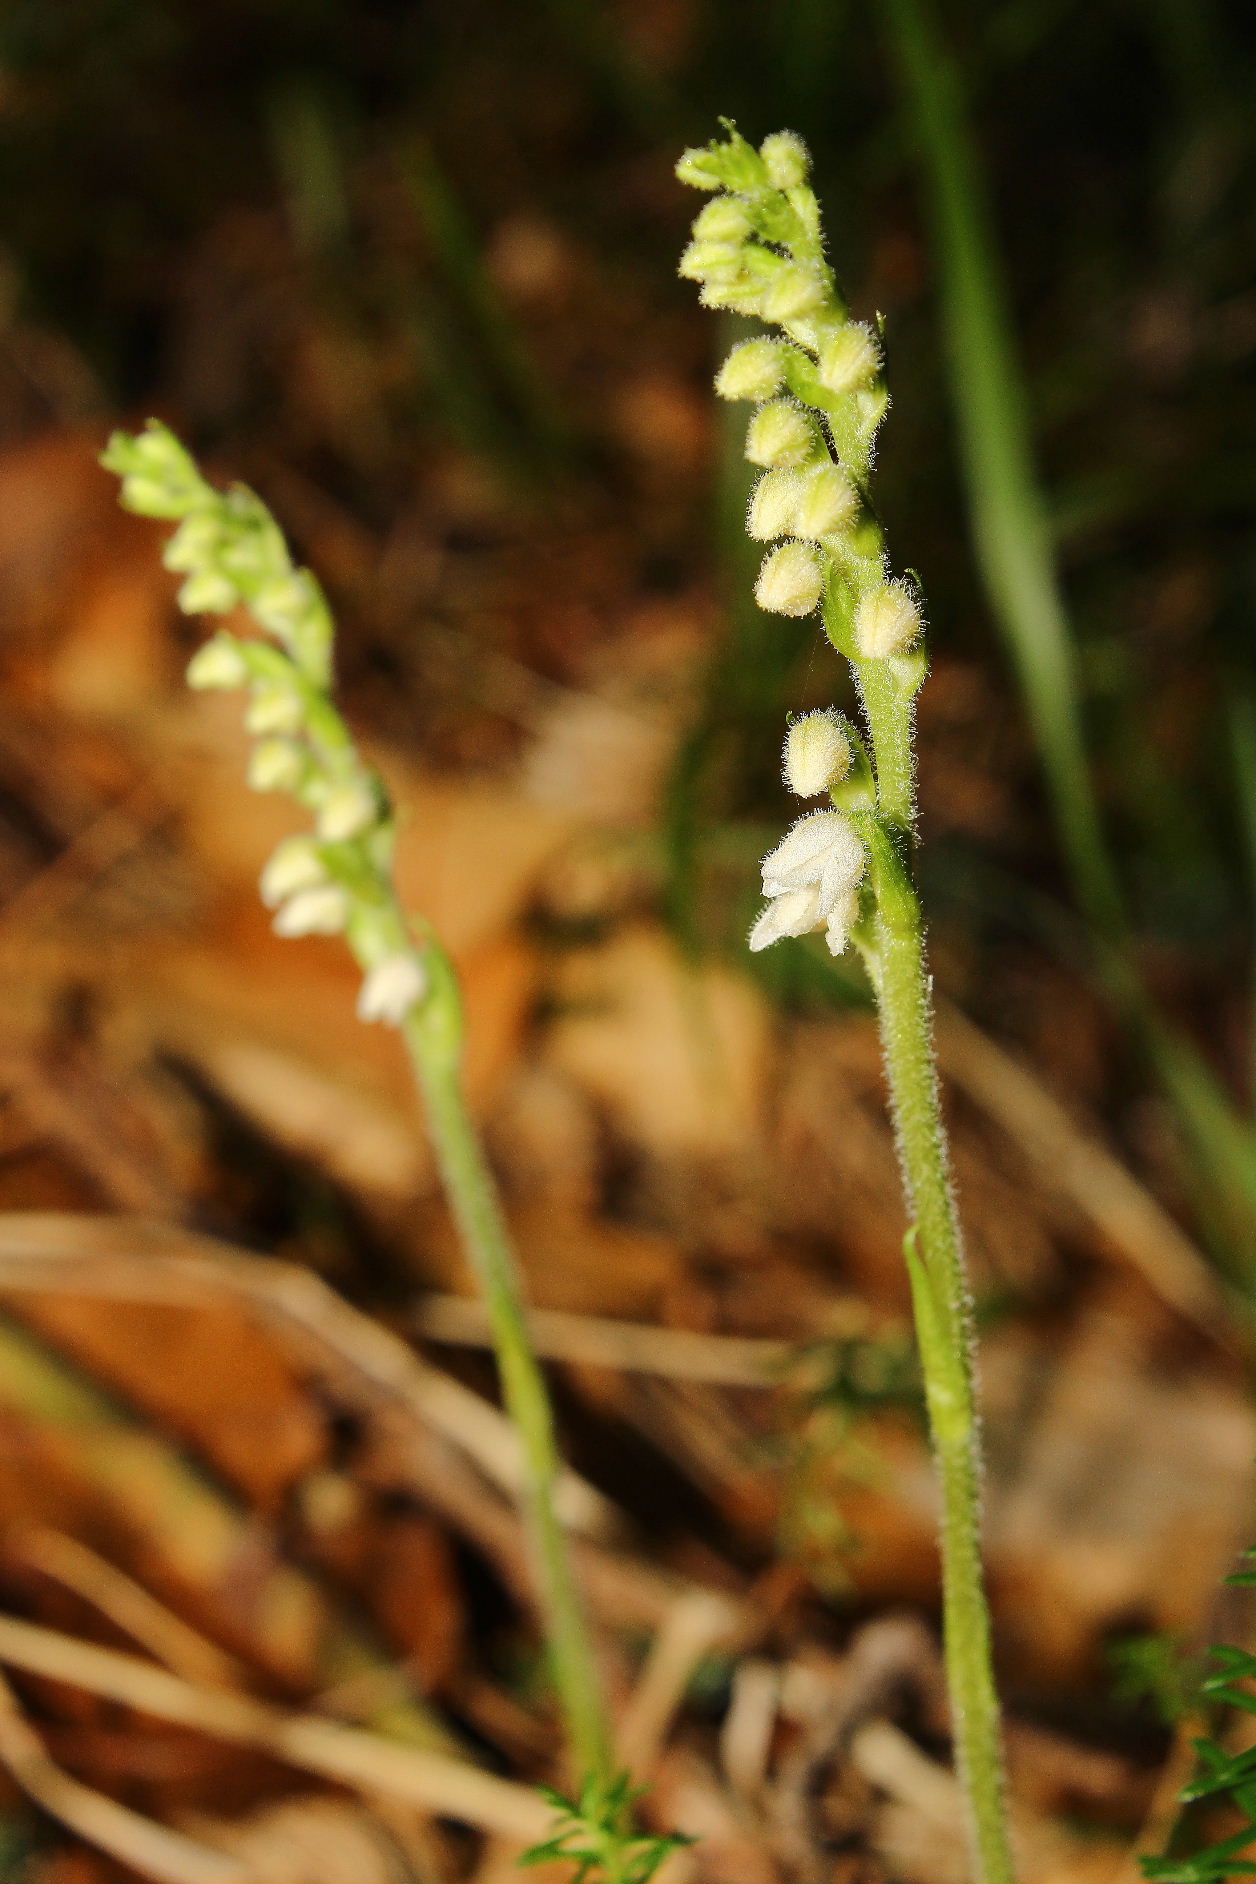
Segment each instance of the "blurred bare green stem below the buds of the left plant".
M461 1014L454 970L435 948L429 999L405 1021L405 1044L467 1255L484 1294L501 1392L525 1462L525 1515L546 1622L554 1682L569 1750L582 1777L606 1786L612 1743L593 1643L576 1586L567 1534L556 1511L561 1456L540 1364L523 1311L523 1291L497 1187L461 1089Z

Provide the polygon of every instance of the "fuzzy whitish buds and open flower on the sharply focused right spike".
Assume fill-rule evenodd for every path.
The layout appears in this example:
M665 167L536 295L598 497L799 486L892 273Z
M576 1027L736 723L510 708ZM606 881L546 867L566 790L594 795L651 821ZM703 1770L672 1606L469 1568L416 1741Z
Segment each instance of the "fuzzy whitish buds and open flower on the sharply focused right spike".
M866 501L876 431L889 403L881 347L872 328L851 318L825 260L806 145L778 132L755 151L729 124L725 139L685 151L676 175L710 194L680 273L699 283L706 307L776 330L738 341L716 375L723 399L755 407L746 458L763 475L748 531L768 544L755 599L787 616L821 607L864 699L870 691L893 695L910 714L925 678L921 605L893 575ZM859 757L866 769L862 748ZM785 746L791 789L829 793L849 769L851 742L836 714L810 714L793 725ZM751 931L751 950L819 927L834 953L845 948L864 848L844 810L800 820L763 872L768 906Z

